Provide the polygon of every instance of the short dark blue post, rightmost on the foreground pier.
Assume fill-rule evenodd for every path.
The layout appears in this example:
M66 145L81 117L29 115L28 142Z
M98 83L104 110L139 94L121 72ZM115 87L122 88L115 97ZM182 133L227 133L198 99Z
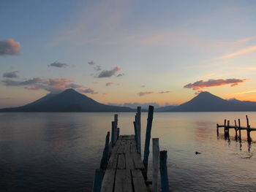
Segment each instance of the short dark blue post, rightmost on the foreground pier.
M160 175L161 175L161 185L162 185L162 192L169 192L169 181L168 181L168 173L167 173L167 151L162 150L160 151Z

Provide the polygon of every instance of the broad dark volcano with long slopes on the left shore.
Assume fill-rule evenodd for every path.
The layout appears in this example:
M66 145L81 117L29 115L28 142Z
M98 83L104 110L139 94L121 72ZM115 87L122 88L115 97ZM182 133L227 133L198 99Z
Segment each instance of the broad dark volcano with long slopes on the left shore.
M100 104L73 89L48 94L22 107L0 109L0 112L133 112L129 107Z

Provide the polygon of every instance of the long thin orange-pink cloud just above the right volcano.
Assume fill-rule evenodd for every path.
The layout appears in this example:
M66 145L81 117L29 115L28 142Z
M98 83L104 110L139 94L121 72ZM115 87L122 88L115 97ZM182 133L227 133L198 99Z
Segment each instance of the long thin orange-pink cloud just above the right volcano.
M208 88L208 87L215 87L215 86L222 86L222 85L227 85L227 84L231 84L230 86L236 86L238 85L238 83L240 82L244 82L246 79L244 80L239 80L239 79L227 79L227 80L223 80L223 79L219 79L219 80L208 80L208 81L203 81L203 80L199 80L197 82L194 83L189 83L187 85L184 85L184 88L192 88L193 90L197 90L200 88Z

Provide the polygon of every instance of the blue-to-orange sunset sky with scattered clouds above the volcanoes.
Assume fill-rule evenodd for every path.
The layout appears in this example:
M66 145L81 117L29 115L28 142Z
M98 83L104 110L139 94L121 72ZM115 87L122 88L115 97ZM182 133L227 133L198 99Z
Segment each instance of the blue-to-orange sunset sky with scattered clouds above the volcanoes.
M0 107L67 88L108 104L256 101L256 1L1 1Z

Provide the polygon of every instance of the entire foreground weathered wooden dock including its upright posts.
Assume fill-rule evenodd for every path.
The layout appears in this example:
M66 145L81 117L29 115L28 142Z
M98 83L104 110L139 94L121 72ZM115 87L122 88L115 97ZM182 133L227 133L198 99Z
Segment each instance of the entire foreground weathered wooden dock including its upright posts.
M111 140L108 131L100 168L96 169L94 175L93 192L157 192L158 172L161 175L162 191L169 191L166 165L167 151L159 151L158 138L152 139L152 181L148 181L147 178L153 112L154 107L149 106L143 161L141 159L140 107L138 107L133 122L135 134L132 135L119 135L118 115L115 115L111 123Z

